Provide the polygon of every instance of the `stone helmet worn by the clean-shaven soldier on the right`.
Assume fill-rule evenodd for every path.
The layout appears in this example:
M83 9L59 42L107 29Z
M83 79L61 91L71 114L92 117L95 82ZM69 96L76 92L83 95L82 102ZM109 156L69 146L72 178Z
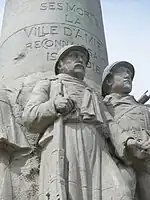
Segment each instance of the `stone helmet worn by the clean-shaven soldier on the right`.
M107 90L107 87L106 87L106 80L107 80L107 77L112 73L112 71L117 68L117 67L120 67L120 66L124 66L124 67L127 67L130 69L130 71L132 72L132 80L134 78L134 74L135 74L135 70L134 70L134 66L127 62L127 61L117 61L117 62L114 62L110 65L108 65L105 69L104 69L104 72L103 72L103 75L102 75L102 96L105 97L106 95L108 95L108 90Z

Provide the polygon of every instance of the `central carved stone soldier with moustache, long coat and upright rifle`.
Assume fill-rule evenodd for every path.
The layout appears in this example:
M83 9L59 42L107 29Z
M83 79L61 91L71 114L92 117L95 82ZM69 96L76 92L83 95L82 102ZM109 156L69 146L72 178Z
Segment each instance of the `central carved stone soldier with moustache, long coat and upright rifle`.
M40 200L131 200L107 151L98 97L83 81L88 62L83 46L64 47L56 76L37 83L24 109L26 127L41 135Z

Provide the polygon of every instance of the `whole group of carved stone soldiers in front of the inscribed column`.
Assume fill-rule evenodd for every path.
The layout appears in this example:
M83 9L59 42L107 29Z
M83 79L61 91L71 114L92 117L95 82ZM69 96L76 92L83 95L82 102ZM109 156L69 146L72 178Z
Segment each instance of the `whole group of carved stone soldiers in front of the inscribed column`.
M107 66L102 96L84 81L90 54L61 49L55 75L0 89L0 199L148 200L149 110L129 93L134 67Z

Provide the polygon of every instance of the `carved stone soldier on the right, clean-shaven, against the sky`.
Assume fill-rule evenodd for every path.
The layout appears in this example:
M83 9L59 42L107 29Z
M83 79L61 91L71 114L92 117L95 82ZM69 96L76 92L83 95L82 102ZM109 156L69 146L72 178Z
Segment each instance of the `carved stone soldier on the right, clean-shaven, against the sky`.
M107 66L103 73L102 95L111 115L123 132L130 136L125 142L126 148L122 156L118 153L121 147L120 140L116 140L115 143L111 140L118 167L133 193L136 187L136 173L139 199L149 200L150 115L145 105L139 104L129 95L134 73L133 65L125 61ZM115 137L111 130L110 134Z

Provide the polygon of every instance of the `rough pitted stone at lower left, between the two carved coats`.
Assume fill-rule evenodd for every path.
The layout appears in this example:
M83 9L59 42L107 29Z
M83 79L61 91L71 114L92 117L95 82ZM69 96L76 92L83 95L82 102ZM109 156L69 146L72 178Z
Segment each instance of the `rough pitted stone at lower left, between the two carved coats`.
M14 158L11 171L12 198L9 200L37 200L39 181L39 156Z

